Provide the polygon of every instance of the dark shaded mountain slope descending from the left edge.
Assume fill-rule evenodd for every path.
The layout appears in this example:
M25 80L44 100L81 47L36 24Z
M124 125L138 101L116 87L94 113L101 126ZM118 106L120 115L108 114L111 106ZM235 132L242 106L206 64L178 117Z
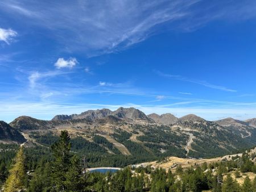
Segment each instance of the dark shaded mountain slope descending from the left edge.
M23 135L9 124L0 121L0 143L4 141L16 141L17 143L24 143L26 139Z

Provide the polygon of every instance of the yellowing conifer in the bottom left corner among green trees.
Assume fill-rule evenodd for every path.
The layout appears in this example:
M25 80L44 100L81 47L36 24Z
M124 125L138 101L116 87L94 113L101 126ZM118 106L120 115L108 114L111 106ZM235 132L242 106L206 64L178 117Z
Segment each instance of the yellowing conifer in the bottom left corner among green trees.
M24 148L21 147L15 157L15 164L10 170L10 175L5 182L6 192L19 191L25 188L26 172L24 165Z

